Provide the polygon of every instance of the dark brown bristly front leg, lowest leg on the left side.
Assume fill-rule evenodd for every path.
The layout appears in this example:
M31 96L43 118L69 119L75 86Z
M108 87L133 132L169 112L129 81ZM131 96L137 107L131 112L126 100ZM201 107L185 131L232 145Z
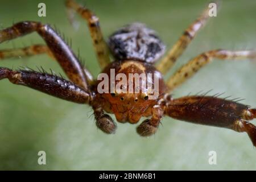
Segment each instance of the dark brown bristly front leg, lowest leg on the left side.
M63 100L79 104L89 104L92 101L89 92L55 75L24 70L13 71L0 67L0 80L4 78L8 78L13 84L28 86Z

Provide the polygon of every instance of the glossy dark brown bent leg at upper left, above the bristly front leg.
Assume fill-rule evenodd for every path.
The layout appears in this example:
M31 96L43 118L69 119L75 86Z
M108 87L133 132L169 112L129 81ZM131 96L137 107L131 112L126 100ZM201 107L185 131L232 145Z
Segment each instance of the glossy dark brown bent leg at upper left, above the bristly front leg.
M42 36L49 50L51 50L69 79L76 85L88 90L88 82L79 60L63 39L47 24L44 25L40 22L16 23L12 27L0 31L0 43L30 34L34 31Z

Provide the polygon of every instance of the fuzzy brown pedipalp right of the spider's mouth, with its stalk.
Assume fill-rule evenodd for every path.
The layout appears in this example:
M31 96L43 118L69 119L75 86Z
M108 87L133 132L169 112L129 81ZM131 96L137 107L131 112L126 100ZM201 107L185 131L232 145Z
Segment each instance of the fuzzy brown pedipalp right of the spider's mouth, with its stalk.
M159 123L163 117L164 110L160 105L155 105L152 107L152 117L150 119L144 120L141 125L137 127L137 133L142 137L148 137L155 134Z

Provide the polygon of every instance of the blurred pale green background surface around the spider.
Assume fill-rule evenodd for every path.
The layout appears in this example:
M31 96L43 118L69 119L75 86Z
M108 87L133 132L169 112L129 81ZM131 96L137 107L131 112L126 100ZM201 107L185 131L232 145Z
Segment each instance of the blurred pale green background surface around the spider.
M38 3L46 3L47 16L38 17ZM118 27L143 22L158 31L167 48L197 18L208 1L81 0L100 17L105 37ZM1 0L0 27L22 20L55 25L72 38L73 50L85 59L94 76L100 72L86 23L79 16L75 30L65 14L64 1ZM256 2L222 1L217 17L211 18L181 56L175 69L209 49L256 48ZM36 34L0 44L0 49L43 43ZM61 69L47 55L0 60L1 67L43 66ZM253 61L220 61L202 69L175 90L174 96L189 92L242 97L256 107L256 64ZM0 169L256 169L256 150L245 133L164 118L154 137L141 138L135 125L118 123L114 135L103 134L95 126L92 109L62 101L23 86L0 82ZM253 122L255 123L255 121ZM38 151L46 151L47 164L38 164ZM217 152L217 165L209 165L209 151Z

